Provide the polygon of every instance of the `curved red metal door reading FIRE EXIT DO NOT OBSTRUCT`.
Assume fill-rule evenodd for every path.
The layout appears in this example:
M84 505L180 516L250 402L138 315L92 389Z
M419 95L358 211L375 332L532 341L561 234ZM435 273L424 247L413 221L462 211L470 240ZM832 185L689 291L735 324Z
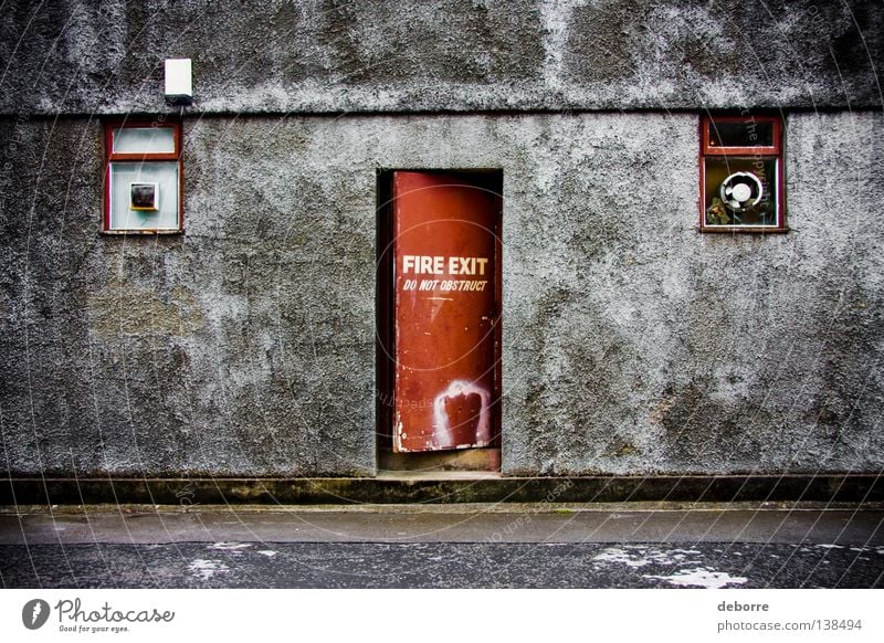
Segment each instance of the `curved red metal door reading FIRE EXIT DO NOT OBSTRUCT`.
M499 196L459 175L393 172L393 451L499 434Z

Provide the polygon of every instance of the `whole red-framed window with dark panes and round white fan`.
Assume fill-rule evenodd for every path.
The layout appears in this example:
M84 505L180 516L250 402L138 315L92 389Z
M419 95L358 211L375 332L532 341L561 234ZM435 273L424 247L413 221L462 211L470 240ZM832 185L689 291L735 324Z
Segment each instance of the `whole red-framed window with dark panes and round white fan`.
M787 230L782 119L704 116L699 125L699 229L704 232Z

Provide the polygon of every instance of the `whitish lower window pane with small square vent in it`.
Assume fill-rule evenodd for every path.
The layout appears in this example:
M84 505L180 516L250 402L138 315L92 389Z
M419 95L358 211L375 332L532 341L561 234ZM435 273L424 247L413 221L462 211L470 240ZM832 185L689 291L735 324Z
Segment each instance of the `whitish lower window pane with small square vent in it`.
M112 162L109 229L178 230L178 162Z

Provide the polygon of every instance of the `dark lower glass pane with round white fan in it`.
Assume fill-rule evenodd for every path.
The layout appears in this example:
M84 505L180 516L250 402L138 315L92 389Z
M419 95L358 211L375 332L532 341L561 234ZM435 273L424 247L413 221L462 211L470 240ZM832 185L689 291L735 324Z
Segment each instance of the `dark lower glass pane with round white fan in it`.
M777 225L777 159L706 157L706 225Z

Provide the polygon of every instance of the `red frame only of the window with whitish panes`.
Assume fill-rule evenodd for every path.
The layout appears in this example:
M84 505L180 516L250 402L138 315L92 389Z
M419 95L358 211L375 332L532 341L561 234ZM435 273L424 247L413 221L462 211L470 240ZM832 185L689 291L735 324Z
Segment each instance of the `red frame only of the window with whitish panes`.
M171 152L115 152L114 151L114 131L117 129L129 128L166 128L172 129L175 141L175 150ZM104 234L180 234L185 231L185 167L181 160L181 123L178 120L170 120L158 123L157 120L108 120L104 124L105 133L105 149L104 149L104 214L102 222L102 232ZM178 228L159 228L159 229L110 229L110 164L113 161L178 161Z

